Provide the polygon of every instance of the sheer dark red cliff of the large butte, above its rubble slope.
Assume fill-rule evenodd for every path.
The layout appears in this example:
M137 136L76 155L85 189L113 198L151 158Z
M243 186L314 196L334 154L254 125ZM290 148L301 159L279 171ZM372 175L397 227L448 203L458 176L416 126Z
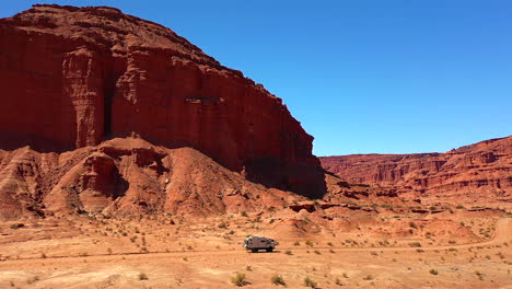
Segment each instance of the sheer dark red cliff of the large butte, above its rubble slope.
M0 20L0 149L60 152L135 134L269 186L325 193L313 138L280 99L117 9L34 5Z

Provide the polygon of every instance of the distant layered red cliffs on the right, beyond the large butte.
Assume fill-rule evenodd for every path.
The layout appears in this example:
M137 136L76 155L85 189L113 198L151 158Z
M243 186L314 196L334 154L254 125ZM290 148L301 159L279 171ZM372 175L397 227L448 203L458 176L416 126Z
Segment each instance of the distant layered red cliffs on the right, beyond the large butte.
M325 157L321 162L348 182L394 187L416 196L512 201L512 137L445 153L354 154Z

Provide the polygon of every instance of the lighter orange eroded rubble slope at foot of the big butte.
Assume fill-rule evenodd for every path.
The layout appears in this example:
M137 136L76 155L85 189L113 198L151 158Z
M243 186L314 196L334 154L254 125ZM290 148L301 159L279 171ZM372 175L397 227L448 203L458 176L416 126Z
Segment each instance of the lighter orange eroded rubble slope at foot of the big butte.
M191 148L142 139L115 138L60 154L0 150L0 220L48 213L211 216L301 199L248 182Z

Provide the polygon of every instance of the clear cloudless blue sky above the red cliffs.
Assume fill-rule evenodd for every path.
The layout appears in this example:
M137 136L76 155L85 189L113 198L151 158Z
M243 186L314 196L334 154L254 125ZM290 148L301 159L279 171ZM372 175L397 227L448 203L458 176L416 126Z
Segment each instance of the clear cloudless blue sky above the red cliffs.
M512 1L5 1L112 5L283 99L317 155L447 151L512 135Z

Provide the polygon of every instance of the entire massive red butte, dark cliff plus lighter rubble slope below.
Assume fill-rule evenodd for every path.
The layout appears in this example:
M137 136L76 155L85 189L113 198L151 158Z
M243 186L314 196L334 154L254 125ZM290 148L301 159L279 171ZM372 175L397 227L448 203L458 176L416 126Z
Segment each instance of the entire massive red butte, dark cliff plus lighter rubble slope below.
M0 20L0 86L3 217L176 204L224 211L225 195L251 199L256 184L326 193L313 137L280 99L115 8L37 4Z

